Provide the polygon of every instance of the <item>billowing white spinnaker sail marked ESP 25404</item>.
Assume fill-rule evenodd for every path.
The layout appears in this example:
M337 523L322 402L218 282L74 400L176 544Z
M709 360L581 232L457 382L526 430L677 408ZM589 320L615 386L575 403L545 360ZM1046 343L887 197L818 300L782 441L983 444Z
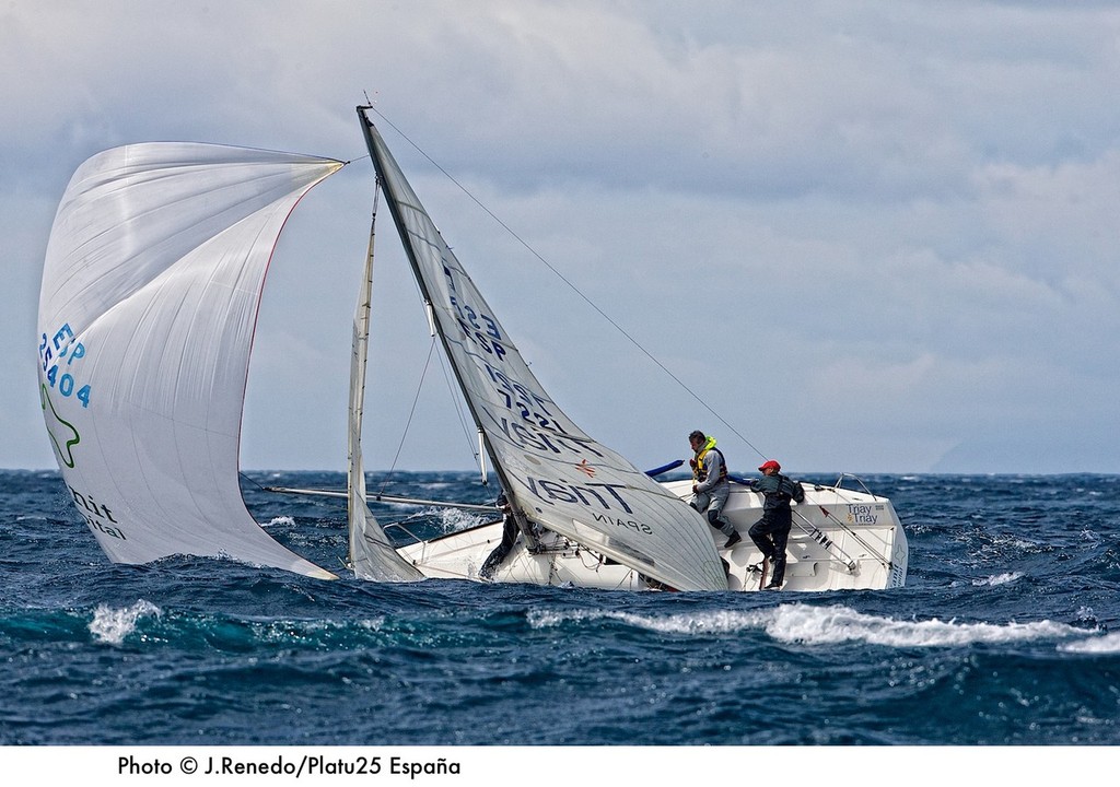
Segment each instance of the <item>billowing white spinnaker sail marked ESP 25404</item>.
M253 521L237 453L269 259L296 203L342 166L158 142L72 178L44 264L40 395L63 478L112 561L223 556L334 578Z

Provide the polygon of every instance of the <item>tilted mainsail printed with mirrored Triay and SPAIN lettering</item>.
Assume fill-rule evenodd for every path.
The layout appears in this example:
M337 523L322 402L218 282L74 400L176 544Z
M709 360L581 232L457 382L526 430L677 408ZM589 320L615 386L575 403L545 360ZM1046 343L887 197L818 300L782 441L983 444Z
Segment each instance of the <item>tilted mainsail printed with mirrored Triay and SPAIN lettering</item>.
M726 590L704 518L585 434L545 394L364 109L358 114L417 281L512 503L544 527L673 588Z

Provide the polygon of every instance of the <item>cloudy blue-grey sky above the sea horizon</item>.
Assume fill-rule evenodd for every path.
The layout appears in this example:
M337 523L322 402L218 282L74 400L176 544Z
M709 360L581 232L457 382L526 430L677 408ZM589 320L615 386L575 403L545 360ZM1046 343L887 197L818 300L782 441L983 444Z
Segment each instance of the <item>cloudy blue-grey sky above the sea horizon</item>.
M242 433L246 469L345 467L368 96L552 399L636 466L701 429L744 474L1120 472L1114 3L10 0L0 75L0 467L55 467L66 184L153 140L352 162L281 237ZM384 214L366 467L470 469Z

